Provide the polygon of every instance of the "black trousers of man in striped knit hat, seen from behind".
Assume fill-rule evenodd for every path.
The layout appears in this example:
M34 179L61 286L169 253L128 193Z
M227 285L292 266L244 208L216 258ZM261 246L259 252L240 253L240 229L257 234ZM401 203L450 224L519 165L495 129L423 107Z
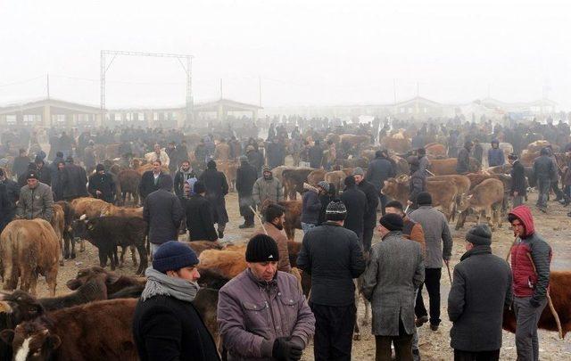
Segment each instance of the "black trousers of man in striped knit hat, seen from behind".
M310 302L315 316L313 357L315 361L351 361L355 305L335 307Z

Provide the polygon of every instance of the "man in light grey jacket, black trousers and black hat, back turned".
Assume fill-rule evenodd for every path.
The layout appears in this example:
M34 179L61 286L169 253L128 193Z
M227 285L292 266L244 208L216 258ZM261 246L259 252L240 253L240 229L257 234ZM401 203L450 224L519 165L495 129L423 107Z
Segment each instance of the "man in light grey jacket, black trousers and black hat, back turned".
M442 275L443 262L448 267L451 258L452 236L448 221L443 213L432 207L430 193L418 194L418 209L410 213L410 220L422 226L425 233L426 260L425 260L425 283L428 298L430 299L430 329L438 330L440 319L440 278ZM418 323L427 321L426 308L422 299L422 284L418 290L417 304L415 306Z

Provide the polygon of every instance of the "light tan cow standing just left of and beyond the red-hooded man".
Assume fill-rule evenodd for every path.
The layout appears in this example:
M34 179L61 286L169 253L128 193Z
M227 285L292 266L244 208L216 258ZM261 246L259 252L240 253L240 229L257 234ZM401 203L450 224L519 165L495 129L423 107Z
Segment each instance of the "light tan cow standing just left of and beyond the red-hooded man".
M504 199L504 186L501 180L485 179L479 185L476 185L468 196L462 197L459 203L459 211L463 214L472 209L476 213L476 224L480 223L480 215L484 212L484 216L488 220L488 224L492 231L495 229L494 223L501 227L500 209ZM459 217L456 229L464 226L466 217Z

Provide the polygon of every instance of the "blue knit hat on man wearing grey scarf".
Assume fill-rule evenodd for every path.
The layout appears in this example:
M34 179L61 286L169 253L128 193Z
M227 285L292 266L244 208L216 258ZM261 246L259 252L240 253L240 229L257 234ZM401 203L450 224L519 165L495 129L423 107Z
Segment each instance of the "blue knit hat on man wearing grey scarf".
M184 267L198 265L196 253L186 244L178 241L162 243L153 256L153 268L163 274Z

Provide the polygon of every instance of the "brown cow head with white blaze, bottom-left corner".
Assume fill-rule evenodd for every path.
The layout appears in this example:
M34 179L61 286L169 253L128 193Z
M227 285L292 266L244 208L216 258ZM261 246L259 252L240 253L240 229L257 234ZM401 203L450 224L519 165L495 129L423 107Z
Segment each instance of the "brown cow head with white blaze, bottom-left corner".
M0 339L12 344L15 360L25 361L49 360L62 344L60 337L38 320L19 324L13 330L3 330Z

